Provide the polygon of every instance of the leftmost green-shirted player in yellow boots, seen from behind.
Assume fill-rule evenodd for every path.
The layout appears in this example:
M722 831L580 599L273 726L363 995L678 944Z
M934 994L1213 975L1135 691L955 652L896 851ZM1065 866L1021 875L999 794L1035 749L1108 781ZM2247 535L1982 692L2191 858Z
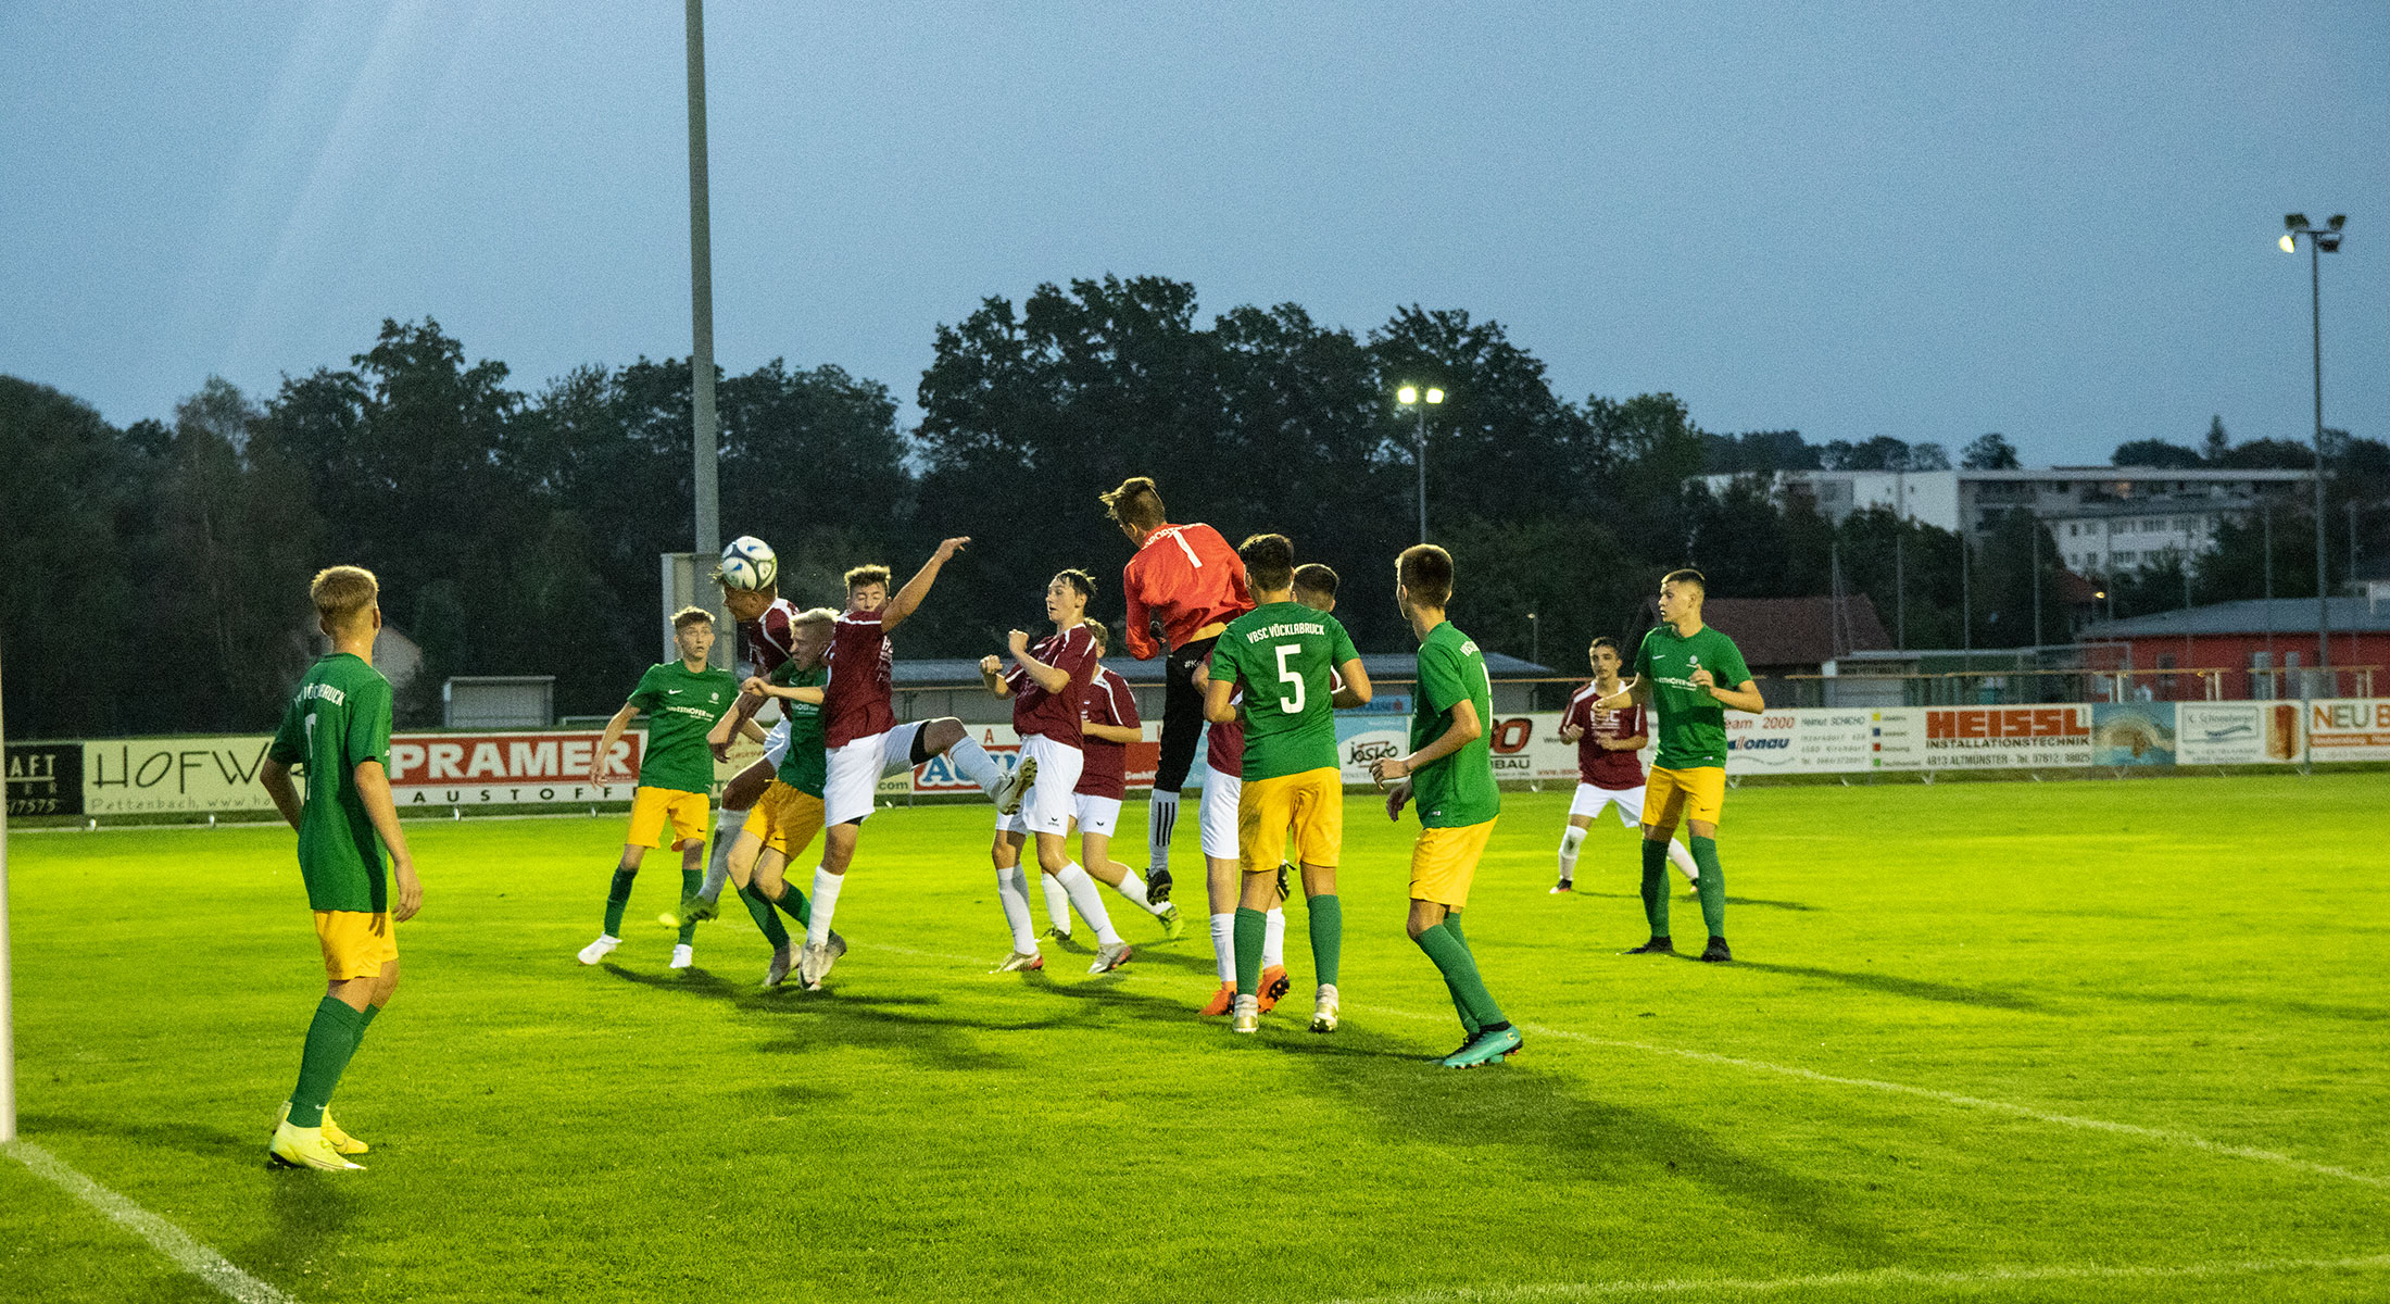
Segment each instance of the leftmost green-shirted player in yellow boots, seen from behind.
M363 567L330 567L315 572L311 596L332 653L299 682L258 780L299 833L299 876L315 909L327 983L306 1029L299 1086L282 1103L265 1153L287 1168L363 1168L344 1156L368 1146L342 1132L325 1105L373 1017L399 991L394 926L423 909L423 883L390 799L390 680L373 670L380 584ZM292 787L292 766L306 768L306 802ZM382 880L385 847L397 904Z

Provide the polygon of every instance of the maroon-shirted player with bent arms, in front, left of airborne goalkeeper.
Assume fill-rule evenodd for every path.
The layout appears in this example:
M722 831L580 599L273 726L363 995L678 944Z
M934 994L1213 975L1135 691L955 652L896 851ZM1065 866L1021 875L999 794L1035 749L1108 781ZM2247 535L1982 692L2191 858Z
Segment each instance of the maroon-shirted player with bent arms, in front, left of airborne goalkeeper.
M1080 919L1095 926L1095 964L1090 974L1119 969L1135 955L1111 926L1104 895L1095 890L1095 878L1071 861L1071 809L1078 792L1078 775L1085 770L1080 737L1087 711L1087 684L1095 680L1095 632L1087 629L1087 598L1095 596L1095 579L1083 569L1059 572L1047 581L1047 620L1054 632L1030 644L1030 636L1013 629L1009 646L1013 668L1004 658L980 660L980 680L987 691L1013 699L1013 732L1021 735L1021 770L1032 773L1025 799L997 816L997 840L989 859L997 866L997 900L1004 904L1004 921L1013 931L1013 950L997 964L997 974L1016 969L1044 969L1037 952L1037 933L1030 916L1030 883L1021 869L1021 847L1037 837L1037 869L1061 883Z

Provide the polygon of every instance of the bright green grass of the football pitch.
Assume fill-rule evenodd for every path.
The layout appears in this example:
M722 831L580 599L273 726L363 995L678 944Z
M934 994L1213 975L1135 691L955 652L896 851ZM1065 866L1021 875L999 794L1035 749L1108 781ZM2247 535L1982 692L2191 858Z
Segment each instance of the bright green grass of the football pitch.
M289 833L22 833L22 1129L299 1302L2390 1294L2383 775L1745 787L1730 967L1618 955L1616 823L1546 895L1565 802L1503 797L1467 933L1527 1046L1475 1072L1362 794L1346 1022L1298 904L1255 1038L1195 1017L1193 821L1185 940L1107 895L1121 974L989 976L987 809L884 811L825 993L758 991L736 904L669 974L662 857L578 964L619 816L411 823L344 1175L263 1165L323 993ZM24 1163L0 1297L222 1299Z

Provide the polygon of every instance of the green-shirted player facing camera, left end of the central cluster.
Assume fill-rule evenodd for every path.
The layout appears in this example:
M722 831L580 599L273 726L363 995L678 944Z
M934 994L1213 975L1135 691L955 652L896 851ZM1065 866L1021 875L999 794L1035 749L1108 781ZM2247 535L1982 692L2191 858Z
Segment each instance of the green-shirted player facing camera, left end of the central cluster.
M614 744L633 715L648 713L648 749L638 761L638 787L631 790L631 835L605 895L605 931L581 947L581 964L598 964L621 945L621 912L631 902L638 861L648 849L667 845L667 825L669 847L681 852L681 892L674 900L695 895L705 880L705 830L712 828L705 799L715 790L715 754L705 747L705 735L739 701L739 680L705 663L715 651L715 617L705 608L672 613L672 641L681 648L681 660L650 665L638 677L631 699L605 723L598 761L590 763L590 782L607 782ZM762 730L753 723L748 727L762 742ZM672 947L674 969L695 962L695 919L681 924Z

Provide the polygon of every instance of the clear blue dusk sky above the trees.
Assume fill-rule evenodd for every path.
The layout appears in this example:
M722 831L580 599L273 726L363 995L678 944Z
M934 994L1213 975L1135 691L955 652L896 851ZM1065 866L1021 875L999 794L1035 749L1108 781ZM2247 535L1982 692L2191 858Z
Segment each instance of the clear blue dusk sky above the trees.
M1037 282L1501 321L1711 431L2390 438L2390 5L707 7L717 357L911 400ZM681 5L0 10L0 371L110 421L435 316L688 352ZM908 409L911 419L911 409Z

